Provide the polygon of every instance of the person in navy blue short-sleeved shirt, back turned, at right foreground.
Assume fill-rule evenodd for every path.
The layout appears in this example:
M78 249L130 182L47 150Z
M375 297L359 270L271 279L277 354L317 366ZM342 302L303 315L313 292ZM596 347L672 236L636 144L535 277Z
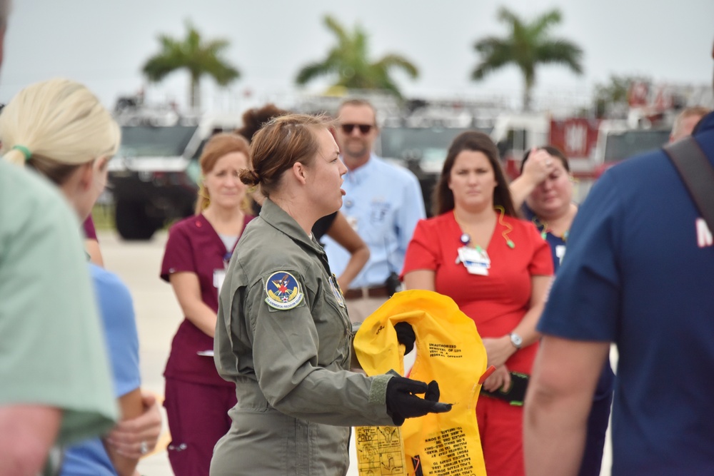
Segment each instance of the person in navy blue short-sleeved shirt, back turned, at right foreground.
M714 165L714 113L693 136ZM578 472L610 343L619 353L613 476L714 475L712 228L661 150L595 184L538 325L544 337L524 421L528 475Z

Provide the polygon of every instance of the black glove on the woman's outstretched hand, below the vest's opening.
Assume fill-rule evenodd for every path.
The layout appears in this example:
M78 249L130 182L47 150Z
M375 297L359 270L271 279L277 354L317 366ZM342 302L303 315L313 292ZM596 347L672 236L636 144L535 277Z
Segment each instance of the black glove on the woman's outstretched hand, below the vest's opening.
M415 393L423 393L420 398ZM387 383L387 413L395 425L400 426L405 418L422 417L427 413L444 413L451 410L451 403L439 402L439 384L432 380L429 385L411 378L393 377Z

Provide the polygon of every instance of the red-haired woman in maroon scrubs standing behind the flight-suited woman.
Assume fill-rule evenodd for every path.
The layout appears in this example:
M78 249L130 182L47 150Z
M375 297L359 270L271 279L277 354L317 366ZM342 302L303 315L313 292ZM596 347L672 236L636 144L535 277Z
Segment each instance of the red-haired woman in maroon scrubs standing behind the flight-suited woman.
M236 134L221 133L206 143L196 215L171 227L161 265L161 278L171 283L186 316L164 371L169 460L176 476L208 476L213 446L231 427L228 410L236 404L236 389L216 372L213 333L228 261L253 219L238 177L248 156L248 142Z

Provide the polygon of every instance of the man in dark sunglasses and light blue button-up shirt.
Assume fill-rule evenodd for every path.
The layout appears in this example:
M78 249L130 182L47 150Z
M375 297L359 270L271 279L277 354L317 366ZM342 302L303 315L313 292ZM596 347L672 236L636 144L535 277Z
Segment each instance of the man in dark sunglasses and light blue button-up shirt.
M395 290L409 240L426 213L416 176L372 153L379 134L373 106L361 99L345 101L338 121L336 138L348 168L341 211L370 251L361 273L343 290L350 318L359 322ZM331 238L324 241L331 268L340 275L350 254Z

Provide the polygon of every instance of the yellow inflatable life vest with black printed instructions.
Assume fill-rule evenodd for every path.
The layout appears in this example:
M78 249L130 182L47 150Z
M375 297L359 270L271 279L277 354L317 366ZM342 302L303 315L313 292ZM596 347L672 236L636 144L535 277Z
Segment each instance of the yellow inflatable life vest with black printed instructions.
M411 324L416 334L416 360L409 377L426 383L436 380L441 390L439 401L453 404L450 412L430 413L404 422L401 439L406 461L401 474L485 476L476 400L481 390L478 381L486 371L486 349L476 325L447 296L425 290L396 293L362 323L355 336L355 352L367 375L389 370L403 375L403 346L398 344L394 330L400 322ZM398 461L393 447L380 451L369 436L381 437L386 430L380 428L398 430L356 428L360 475L369 474L370 469L370 465L363 464L363 457L372 462L381 460L381 465L386 464L385 459L392 466ZM360 442L360 435L362 440L370 441ZM398 441L398 436L391 435L390 441ZM366 471L362 472L362 468ZM395 468L390 474L399 472Z

